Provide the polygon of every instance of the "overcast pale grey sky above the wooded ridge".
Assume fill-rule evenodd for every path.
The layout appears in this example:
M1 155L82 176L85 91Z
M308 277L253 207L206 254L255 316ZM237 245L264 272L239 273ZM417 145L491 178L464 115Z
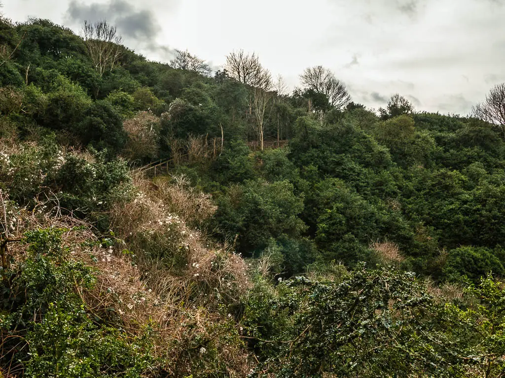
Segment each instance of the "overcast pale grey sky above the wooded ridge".
M14 21L47 18L76 32L107 19L152 60L187 49L213 67L255 51L293 88L308 66L335 72L356 102L399 93L417 110L467 114L505 82L505 0L3 0Z

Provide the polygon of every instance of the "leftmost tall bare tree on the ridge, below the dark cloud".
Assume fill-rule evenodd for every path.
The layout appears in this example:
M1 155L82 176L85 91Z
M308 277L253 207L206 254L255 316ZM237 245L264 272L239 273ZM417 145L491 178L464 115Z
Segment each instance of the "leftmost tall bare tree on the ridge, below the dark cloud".
M102 77L107 70L112 71L121 58L123 38L117 35L116 27L109 25L106 20L93 24L84 21L82 32L89 57Z

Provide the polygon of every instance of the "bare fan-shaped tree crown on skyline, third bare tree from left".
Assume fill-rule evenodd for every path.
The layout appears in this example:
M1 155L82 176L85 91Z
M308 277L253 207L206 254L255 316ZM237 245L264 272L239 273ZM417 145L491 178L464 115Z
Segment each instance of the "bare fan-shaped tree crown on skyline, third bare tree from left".
M232 51L226 56L225 70L235 80L254 88L270 90L272 75L265 69L258 56L253 52L245 54L244 50Z

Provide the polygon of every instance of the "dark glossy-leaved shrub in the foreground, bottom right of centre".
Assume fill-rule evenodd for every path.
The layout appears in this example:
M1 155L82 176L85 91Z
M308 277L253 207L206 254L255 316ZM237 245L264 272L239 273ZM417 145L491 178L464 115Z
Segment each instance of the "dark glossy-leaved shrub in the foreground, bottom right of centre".
M245 314L258 324L249 332L261 345L261 376L459 376L444 308L414 274L360 267L340 282L281 286L251 296Z

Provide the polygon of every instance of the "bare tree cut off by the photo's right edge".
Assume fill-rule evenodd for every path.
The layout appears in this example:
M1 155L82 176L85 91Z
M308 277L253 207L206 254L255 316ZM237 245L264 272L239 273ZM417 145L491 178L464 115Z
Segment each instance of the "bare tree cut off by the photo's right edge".
M505 137L505 83L495 85L486 99L472 108L472 114L497 126Z

